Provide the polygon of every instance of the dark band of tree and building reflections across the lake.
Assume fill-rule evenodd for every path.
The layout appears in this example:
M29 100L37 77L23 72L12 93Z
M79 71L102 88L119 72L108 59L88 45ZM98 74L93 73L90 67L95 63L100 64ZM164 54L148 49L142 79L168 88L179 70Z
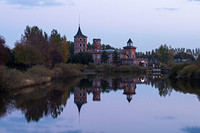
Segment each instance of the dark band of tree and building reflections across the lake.
M88 102L88 94L93 101L100 102L103 93L121 90L127 102L134 100L139 84L151 85L158 89L161 97L170 96L172 90L197 95L200 100L199 84L183 81L169 81L162 75L153 76L90 76L74 78L67 81L54 81L45 85L24 88L13 92L1 92L0 117L6 117L14 110L20 110L27 122L38 122L41 118L51 116L57 118L67 109L67 100L74 95L74 103L81 113L81 108ZM160 118L160 117L159 117Z

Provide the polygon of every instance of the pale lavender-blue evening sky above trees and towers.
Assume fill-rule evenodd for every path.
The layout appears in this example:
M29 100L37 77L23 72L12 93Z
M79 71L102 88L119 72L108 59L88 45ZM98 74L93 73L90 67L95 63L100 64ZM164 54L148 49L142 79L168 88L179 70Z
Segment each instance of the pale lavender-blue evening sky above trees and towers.
M73 41L79 25L88 42L116 48L129 38L137 51L161 44L200 47L200 0L0 0L0 35L14 48L27 25Z

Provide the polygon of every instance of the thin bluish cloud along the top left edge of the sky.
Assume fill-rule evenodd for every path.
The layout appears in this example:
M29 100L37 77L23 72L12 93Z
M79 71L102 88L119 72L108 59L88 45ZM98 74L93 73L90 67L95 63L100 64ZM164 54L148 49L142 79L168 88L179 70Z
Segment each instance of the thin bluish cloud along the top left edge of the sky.
M0 0L10 5L22 7L73 5L72 0Z

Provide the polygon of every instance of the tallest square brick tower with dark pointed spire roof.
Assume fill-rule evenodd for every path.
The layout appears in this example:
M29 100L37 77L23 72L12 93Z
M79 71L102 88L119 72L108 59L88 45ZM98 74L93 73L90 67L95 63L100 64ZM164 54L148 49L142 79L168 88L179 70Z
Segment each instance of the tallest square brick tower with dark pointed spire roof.
M87 36L83 35L79 25L78 32L74 36L74 54L87 51Z

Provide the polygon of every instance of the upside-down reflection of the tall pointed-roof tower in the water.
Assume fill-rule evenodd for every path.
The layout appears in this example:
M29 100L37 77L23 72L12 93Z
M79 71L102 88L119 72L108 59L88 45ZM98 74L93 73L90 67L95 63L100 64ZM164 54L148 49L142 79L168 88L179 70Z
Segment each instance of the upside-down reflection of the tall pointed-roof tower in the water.
M74 102L78 107L78 111L81 111L83 104L87 103L87 89L81 89L79 87L74 88Z

